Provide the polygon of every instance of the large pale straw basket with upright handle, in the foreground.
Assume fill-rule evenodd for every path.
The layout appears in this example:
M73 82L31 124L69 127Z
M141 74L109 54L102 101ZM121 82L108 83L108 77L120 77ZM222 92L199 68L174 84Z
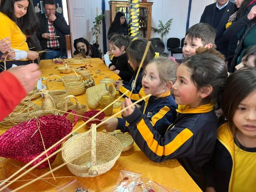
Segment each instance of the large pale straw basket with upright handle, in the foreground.
M119 158L121 143L115 137L91 130L68 139L62 147L62 159L67 168L79 177L96 177L108 172Z

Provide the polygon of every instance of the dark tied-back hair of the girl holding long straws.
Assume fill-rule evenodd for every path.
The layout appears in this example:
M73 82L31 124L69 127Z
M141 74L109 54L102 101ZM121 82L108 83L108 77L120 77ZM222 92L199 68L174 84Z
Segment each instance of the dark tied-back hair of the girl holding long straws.
M202 53L185 59L182 65L187 66L191 70L191 81L198 90L205 86L212 86L212 92L202 100L202 104L213 101L215 107L217 107L221 102L222 93L228 78L225 61L215 54Z

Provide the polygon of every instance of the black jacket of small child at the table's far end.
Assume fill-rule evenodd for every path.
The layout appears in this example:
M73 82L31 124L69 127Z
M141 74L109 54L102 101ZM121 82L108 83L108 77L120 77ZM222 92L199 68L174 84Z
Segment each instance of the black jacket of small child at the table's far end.
M119 77L122 80L129 82L131 77L133 76L133 70L131 69L131 67L128 63L126 53L120 55L119 57L113 57L111 62L112 63L108 66L108 68L110 66L115 66L115 70L120 70L120 72L118 74Z

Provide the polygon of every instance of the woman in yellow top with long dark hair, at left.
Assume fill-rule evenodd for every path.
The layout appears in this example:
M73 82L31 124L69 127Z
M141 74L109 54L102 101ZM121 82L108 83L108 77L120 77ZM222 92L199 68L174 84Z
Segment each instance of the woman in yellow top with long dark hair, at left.
M28 19L29 18L29 19ZM34 18L34 19L33 19ZM29 51L27 36L35 32L37 20L30 0L1 0L0 4L0 40L8 38L11 49L7 55L6 69L16 65L27 65L38 58L38 53ZM14 49L14 50L13 50ZM1 58L0 71L4 70Z

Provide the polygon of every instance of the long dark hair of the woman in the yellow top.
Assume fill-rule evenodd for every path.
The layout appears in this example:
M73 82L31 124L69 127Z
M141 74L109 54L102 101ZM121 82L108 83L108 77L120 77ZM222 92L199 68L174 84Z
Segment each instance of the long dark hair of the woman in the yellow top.
M27 0L27 13L21 18L16 18L14 15L14 2L16 1L20 0L1 0L0 12L4 13L7 15L7 17L13 20L25 35L31 35L36 31L38 24L31 0Z

